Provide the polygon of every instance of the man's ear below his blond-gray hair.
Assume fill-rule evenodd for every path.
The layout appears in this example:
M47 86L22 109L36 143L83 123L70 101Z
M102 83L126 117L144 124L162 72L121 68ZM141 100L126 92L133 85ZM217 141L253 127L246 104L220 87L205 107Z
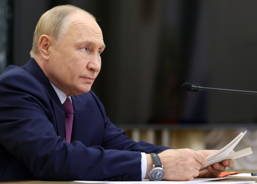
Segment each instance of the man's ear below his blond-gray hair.
M53 39L48 35L41 35L38 39L38 49L45 60L49 60L50 47L53 45Z

